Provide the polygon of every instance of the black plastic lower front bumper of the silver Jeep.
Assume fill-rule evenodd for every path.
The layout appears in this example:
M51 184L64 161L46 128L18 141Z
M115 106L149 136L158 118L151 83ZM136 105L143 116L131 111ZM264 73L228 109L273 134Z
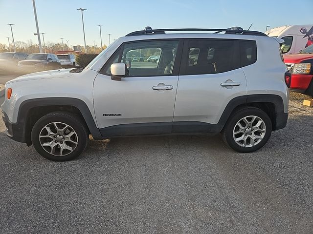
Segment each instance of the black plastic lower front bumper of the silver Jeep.
M11 123L8 116L2 111L2 120L5 124L5 134L15 141L26 143L25 128L23 124Z

